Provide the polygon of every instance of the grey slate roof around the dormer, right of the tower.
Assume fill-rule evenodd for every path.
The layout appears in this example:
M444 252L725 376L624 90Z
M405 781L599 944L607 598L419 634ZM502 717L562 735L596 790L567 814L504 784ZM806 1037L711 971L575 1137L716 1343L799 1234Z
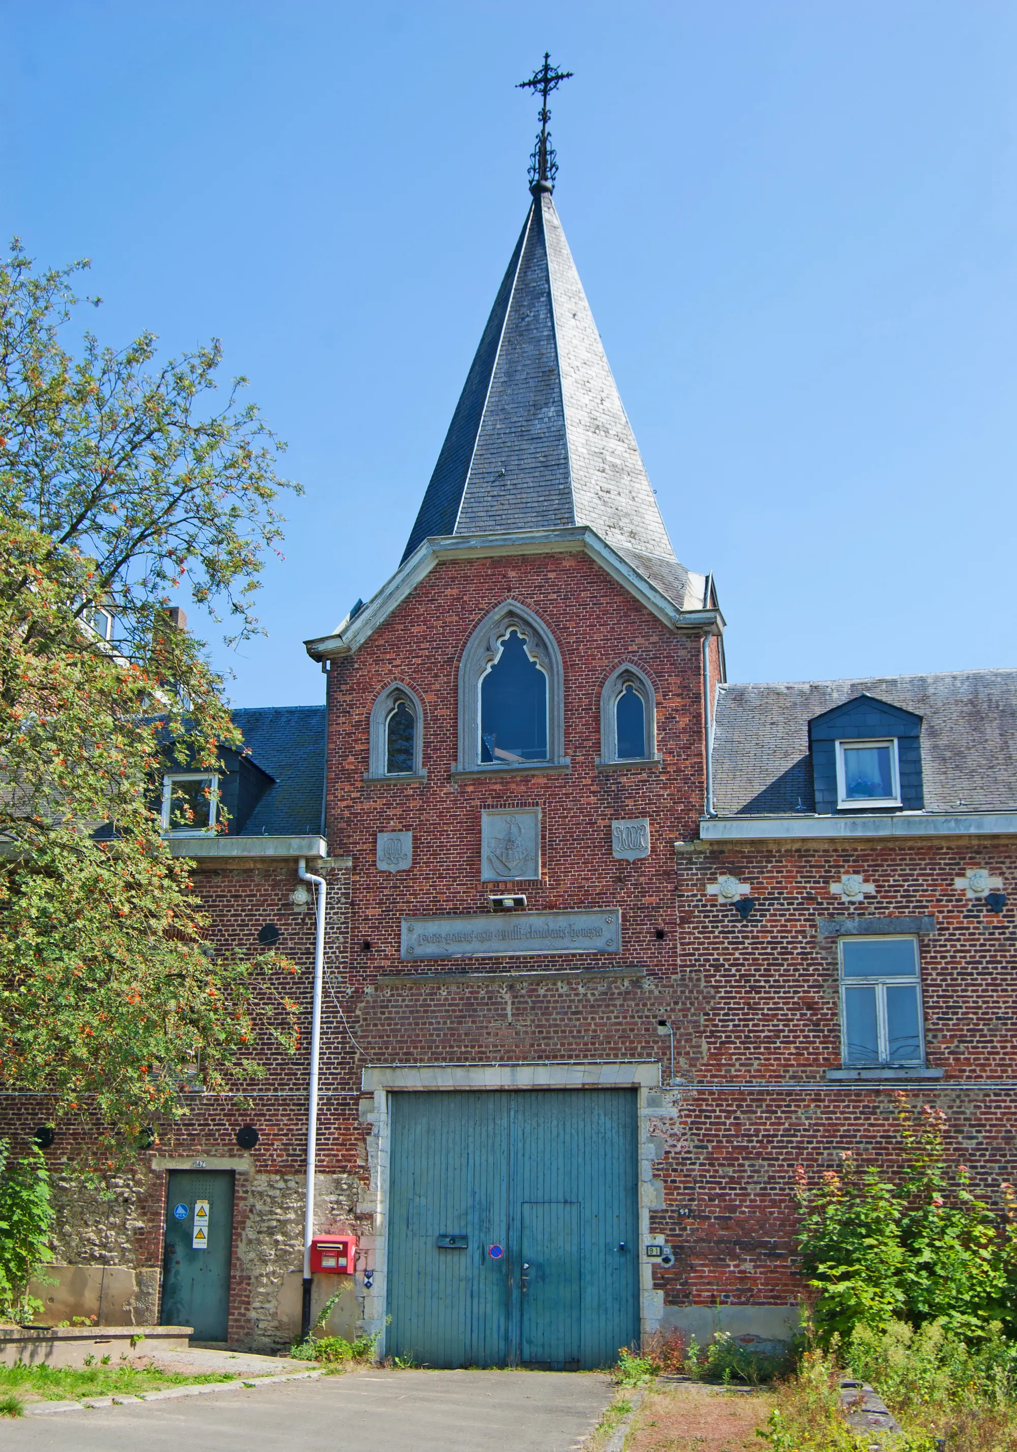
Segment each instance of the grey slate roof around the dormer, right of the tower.
M725 684L713 733L719 816L814 812L808 723L862 694L923 717L927 812L1017 806L1017 669Z

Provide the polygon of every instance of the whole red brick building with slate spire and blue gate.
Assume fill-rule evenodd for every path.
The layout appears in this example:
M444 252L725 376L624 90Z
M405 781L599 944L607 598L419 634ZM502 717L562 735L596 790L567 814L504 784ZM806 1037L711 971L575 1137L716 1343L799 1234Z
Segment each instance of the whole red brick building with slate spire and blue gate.
M308 1005L320 961L337 1329L434 1365L786 1336L795 1165L892 1156L902 1088L1013 1178L1017 672L731 685L724 624L536 183L402 563L307 642L327 706L238 711L227 832L173 838L216 942ZM112 1202L57 1138L54 1311L299 1330L309 1037Z

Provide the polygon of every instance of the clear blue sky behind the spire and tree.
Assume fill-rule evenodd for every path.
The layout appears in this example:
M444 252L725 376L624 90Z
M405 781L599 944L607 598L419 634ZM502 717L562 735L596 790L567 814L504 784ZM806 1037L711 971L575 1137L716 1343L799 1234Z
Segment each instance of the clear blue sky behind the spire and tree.
M1010 0L0 0L0 227L103 341L208 337L289 443L238 704L397 566L523 222L555 202L732 680L1013 665Z

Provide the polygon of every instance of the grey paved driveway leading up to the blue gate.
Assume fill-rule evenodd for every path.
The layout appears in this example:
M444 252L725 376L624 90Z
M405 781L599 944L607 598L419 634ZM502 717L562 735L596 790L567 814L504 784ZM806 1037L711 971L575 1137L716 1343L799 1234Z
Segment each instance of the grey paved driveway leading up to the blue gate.
M363 1371L179 1401L3 1419L4 1452L570 1452L596 1372Z

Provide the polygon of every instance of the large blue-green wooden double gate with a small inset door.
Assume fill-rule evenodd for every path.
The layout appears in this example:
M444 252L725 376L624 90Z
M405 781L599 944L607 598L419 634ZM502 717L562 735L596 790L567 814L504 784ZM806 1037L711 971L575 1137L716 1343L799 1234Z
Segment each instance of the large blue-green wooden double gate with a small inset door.
M639 1334L633 1089L391 1096L386 1349L606 1366Z

